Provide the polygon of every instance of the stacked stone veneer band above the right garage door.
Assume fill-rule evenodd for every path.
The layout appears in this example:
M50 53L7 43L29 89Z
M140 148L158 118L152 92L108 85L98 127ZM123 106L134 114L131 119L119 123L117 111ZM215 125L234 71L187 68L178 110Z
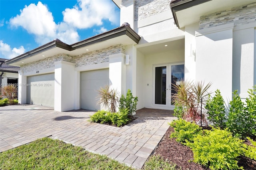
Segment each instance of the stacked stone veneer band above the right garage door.
M107 48L77 55L75 57L75 67L108 62L108 56L116 53L124 53L124 45L113 45Z

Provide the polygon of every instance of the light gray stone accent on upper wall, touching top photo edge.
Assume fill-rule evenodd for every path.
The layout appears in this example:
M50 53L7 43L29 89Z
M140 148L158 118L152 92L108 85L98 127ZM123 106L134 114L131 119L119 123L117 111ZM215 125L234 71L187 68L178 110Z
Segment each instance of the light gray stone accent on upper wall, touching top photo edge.
M167 10L170 10L170 0L135 0L134 21L142 20Z

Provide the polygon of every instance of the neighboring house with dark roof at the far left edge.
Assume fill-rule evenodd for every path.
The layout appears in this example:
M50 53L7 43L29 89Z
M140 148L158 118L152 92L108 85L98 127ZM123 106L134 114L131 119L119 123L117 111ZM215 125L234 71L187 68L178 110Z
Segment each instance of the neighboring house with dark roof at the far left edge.
M6 85L16 85L18 86L18 71L20 67L7 65L5 61L8 59L0 58L0 92L2 87Z

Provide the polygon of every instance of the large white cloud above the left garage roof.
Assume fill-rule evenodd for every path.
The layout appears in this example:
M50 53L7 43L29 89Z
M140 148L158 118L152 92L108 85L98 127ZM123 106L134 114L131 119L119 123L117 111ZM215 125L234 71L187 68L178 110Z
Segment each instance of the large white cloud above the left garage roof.
M20 10L20 15L10 19L13 27L21 26L30 34L35 35L39 45L48 43L56 38L65 43L74 43L79 40L78 33L73 26L64 22L56 24L52 13L42 2L30 4Z

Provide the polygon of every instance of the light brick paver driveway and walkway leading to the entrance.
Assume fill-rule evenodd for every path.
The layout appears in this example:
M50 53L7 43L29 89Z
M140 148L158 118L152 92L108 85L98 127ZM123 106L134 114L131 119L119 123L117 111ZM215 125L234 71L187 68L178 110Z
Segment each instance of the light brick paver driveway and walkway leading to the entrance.
M0 152L53 136L142 168L175 119L171 111L141 109L124 127L88 122L94 112L57 112L37 105L0 107Z

